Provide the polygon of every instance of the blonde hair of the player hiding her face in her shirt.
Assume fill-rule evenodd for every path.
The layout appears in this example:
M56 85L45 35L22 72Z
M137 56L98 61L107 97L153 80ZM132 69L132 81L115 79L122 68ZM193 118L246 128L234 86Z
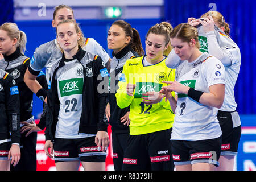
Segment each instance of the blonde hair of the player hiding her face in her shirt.
M229 24L225 22L224 16L218 11L208 11L207 13L201 15L201 18L205 18L207 16L212 16L214 22L218 27L224 27L224 32L226 35L230 36L230 28Z

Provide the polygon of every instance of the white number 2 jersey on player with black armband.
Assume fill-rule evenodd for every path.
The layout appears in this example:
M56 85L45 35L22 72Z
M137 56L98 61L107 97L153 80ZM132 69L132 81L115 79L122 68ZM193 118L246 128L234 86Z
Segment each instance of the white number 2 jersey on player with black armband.
M216 57L203 53L192 63L183 61L176 69L176 81L209 93L214 84L225 84L224 65ZM172 140L197 141L221 136L218 109L196 102L186 94L178 94Z

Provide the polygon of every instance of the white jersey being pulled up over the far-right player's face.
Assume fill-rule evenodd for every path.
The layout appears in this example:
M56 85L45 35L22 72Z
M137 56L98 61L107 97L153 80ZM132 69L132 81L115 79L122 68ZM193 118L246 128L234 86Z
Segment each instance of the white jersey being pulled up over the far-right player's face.
M220 28L214 26L214 31L205 34L203 26L198 28L201 51L209 52L217 57L225 66L225 98L222 111L234 111L237 103L234 97L234 86L237 81L241 65L241 54L237 44L229 38ZM203 51L203 52L204 52Z

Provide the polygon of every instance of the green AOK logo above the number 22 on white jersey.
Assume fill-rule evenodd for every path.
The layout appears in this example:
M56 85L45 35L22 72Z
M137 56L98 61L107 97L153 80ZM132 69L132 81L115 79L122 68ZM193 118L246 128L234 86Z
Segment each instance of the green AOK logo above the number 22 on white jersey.
M71 96L74 94L82 94L83 78L73 78L69 80L59 81L60 96Z

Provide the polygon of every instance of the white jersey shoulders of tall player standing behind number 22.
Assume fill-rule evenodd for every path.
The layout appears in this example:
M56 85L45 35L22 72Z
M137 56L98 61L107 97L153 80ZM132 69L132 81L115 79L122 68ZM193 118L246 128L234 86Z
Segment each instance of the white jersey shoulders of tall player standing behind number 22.
M109 61L109 55L106 53L104 48L93 38L86 38L85 45L82 47L85 51L99 55L104 63ZM30 61L30 67L34 71L41 71L44 67L46 68L46 80L49 83L49 74L51 73L51 67L57 60L62 57L60 47L57 44L57 40L51 40L47 43L42 44L36 48L34 55Z

